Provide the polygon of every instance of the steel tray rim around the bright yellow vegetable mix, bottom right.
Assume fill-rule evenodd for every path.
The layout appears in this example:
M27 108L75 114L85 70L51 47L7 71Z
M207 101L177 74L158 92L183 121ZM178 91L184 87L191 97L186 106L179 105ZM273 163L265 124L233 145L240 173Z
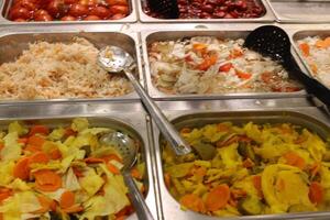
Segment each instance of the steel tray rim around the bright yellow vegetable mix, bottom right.
M217 123L223 121L232 121L233 123L240 124L249 121L256 123L278 123L278 122L290 122L299 124L317 132L320 136L327 139L330 135L330 120L329 118L317 108L299 108L299 109L254 109L254 110L233 110L231 108L222 111L211 110L186 110L186 111L165 111L165 113L173 119L172 122L176 128L182 127L200 127L207 123ZM204 216L194 211L183 211L180 205L176 201L169 191L167 190L163 176L163 163L162 163L162 146L161 135L154 124L154 136L155 136L155 153L156 153L156 165L158 185L162 200L162 213L163 219L209 219L216 220L219 217ZM234 219L242 220L257 220L257 219L329 219L330 212L304 212L304 213L290 213L290 215L264 215L264 216L250 216L250 217L235 217ZM232 219L232 218L221 218Z

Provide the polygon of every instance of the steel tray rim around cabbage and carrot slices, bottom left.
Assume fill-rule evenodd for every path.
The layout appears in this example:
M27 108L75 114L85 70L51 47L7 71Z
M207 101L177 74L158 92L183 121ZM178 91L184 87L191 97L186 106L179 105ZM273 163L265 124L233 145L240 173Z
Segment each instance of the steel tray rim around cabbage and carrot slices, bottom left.
M9 107L10 108L10 107ZM59 125L69 125L72 120L77 117L84 117L89 120L90 127L112 128L128 133L132 138L141 142L141 153L146 162L146 204L153 216L157 217L156 197L157 189L154 185L154 166L153 152L151 142L151 124L148 117L140 106L140 103L118 103L118 105L95 105L94 110L86 113L86 107L82 103L64 106L28 106L23 112L19 109L11 109L12 114L8 114L6 108L0 110L0 128L8 129L8 124L14 120L24 121L28 124L42 123L51 128ZM107 112L100 112L101 109ZM14 113L18 110L16 113ZM22 109L21 109L22 110ZM124 112L123 112L124 111ZM130 220L138 219L136 215L132 215Z

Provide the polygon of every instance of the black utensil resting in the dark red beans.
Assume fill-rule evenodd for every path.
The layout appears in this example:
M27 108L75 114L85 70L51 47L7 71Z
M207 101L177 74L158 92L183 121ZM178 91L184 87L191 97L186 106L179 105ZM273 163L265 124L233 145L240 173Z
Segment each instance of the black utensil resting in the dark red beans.
M164 15L166 19L178 19L179 16L177 0L150 0L147 4L153 12Z

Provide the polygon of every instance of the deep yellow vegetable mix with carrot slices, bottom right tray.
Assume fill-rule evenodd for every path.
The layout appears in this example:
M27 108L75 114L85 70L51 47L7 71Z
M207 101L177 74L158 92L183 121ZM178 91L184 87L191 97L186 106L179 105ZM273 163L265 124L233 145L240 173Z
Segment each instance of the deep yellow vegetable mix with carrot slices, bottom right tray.
M163 142L164 183L183 210L250 216L330 209L330 145L290 123L183 128L193 148L215 157L176 156Z

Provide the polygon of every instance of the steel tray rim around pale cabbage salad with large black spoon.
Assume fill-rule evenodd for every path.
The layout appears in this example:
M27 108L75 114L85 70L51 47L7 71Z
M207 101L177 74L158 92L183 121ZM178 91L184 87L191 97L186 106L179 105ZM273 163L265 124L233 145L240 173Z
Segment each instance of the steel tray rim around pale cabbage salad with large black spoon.
M246 29L245 29L246 30ZM178 40L191 36L218 36L222 38L245 37L249 31L242 30L195 30L195 31L148 31L142 32L143 61L145 67L146 88L151 97L155 99L240 99L240 98L280 98L280 97L301 97L306 91L296 92L237 92L237 94L212 94L212 95L167 95L160 91L152 82L151 68L148 63L147 46L156 41ZM295 54L294 54L295 55Z

